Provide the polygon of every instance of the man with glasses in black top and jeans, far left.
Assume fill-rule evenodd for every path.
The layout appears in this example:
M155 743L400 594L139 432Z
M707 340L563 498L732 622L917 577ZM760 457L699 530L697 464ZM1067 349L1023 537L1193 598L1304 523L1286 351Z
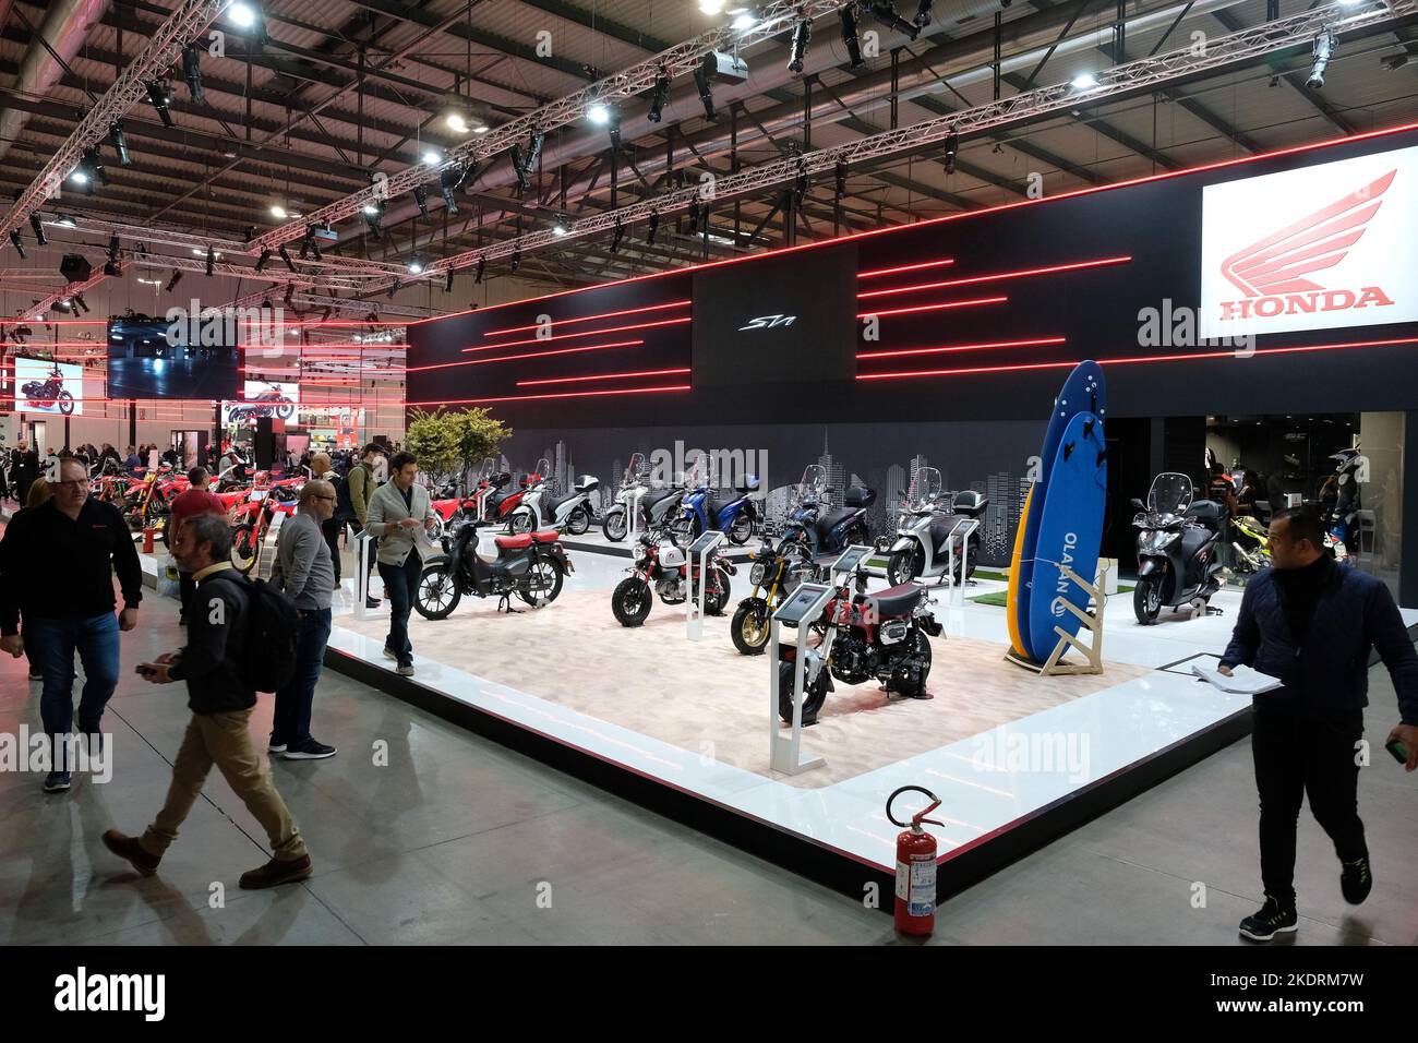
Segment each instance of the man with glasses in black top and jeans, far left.
M68 457L60 465L54 497L18 512L0 542L0 647L30 663L44 677L40 717L50 736L52 763L47 793L69 788L62 756L74 727L74 653L84 663L79 732L99 735L99 721L118 685L118 634L138 626L143 570L123 515L88 494L88 468ZM123 592L115 617L113 572ZM24 639L20 620L24 619Z

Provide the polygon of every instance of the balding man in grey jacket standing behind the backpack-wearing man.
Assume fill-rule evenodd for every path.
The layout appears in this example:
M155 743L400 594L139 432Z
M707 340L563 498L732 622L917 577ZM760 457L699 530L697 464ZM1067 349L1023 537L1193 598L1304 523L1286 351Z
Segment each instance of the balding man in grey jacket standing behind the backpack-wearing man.
M286 761L320 761L335 756L335 746L311 735L311 705L315 684L325 664L325 643L330 639L330 590L335 568L320 526L335 514L335 487L315 480L301 487L301 504L281 526L275 543L271 582L301 610L301 631L295 651L295 673L275 694L271 725L271 754Z

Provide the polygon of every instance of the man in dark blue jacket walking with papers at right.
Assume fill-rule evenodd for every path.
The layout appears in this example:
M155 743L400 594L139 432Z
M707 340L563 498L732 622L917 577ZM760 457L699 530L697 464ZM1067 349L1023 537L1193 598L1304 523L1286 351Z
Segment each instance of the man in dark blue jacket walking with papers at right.
M1271 519L1272 569L1246 585L1221 673L1245 664L1283 681L1255 697L1251 746L1261 792L1261 880L1265 905L1241 935L1271 941L1296 929L1295 826L1300 802L1334 841L1340 890L1353 905L1374 885L1358 817L1360 741L1368 705L1368 654L1394 678L1402 722L1390 732L1418 768L1418 654L1388 587L1340 566L1324 551L1317 515L1303 508Z

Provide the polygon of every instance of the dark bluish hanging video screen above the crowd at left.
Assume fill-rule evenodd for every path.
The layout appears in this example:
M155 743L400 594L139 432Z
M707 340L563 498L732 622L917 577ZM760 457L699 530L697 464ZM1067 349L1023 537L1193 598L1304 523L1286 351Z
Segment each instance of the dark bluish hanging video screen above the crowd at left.
M109 319L109 399L235 399L240 348L221 319Z

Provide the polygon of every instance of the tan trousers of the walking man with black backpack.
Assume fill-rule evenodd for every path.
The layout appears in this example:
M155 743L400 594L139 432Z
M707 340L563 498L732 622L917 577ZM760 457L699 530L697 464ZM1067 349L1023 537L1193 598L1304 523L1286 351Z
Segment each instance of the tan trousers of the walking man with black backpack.
M183 735L182 749L173 763L167 803L153 819L139 841L145 851L162 856L177 839L177 827L201 793L213 765L267 832L271 853L279 861L306 857L305 840L291 820L285 800L271 782L271 771L261 762L247 725L250 710L230 714L193 714Z

